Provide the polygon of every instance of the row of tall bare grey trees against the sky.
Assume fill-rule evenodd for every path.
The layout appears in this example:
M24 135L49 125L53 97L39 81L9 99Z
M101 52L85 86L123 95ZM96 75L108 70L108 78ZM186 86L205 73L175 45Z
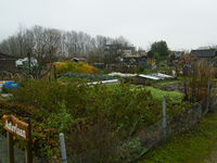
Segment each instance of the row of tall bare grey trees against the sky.
M129 41L123 36L112 39L104 36L91 37L84 32L63 32L53 28L34 26L30 29L18 26L18 32L0 42L0 51L16 58L35 57L38 60L39 70L47 62L55 61L55 58L85 57L92 62L102 62L105 45L129 46Z

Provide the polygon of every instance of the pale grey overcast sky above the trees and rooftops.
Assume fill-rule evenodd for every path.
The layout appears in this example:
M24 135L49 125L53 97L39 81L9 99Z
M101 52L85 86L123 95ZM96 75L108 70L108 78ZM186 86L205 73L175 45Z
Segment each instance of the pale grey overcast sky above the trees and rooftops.
M217 45L217 0L0 0L0 41L18 25L124 36L148 49L165 40L170 50Z

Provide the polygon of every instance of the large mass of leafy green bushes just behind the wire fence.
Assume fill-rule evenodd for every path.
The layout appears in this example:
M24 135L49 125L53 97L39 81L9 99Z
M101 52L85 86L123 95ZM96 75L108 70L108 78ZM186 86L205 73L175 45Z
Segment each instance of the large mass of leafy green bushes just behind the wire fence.
M116 143L162 118L162 98L145 89L132 90L124 83L106 87L87 85L81 79L67 84L29 80L11 93L11 102L31 106L21 106L21 111L39 120L33 124L34 151L39 156L58 153L59 131L65 133L73 146L67 151L73 154ZM188 109L187 103L177 106L169 98L166 101L168 114L182 114Z

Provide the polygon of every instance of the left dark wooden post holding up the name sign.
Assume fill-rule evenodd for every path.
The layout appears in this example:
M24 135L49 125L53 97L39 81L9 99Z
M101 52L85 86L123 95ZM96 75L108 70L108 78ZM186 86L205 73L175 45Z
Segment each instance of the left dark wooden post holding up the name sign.
M11 111L7 111L7 115L11 114ZM7 141L8 141L8 161L9 163L14 163L14 148L13 148L13 134L7 130Z

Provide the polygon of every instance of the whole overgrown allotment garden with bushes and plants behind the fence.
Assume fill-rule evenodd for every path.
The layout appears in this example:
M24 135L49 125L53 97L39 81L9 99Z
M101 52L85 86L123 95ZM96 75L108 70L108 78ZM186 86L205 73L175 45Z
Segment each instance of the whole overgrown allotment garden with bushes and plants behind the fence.
M60 133L65 136L67 155L117 145L162 120L162 98L166 99L167 114L186 114L189 105L203 98L208 80L214 87L212 75L207 77L206 73L201 77L195 74L167 82L149 80L150 86L138 87L124 82L90 84L112 77L98 75L93 68L81 73L81 64L78 72L63 68L58 79L23 80L18 90L8 90L10 99L0 101L0 116L9 110L20 120L30 117L35 158L61 158ZM177 83L183 84L184 92L158 89ZM0 125L5 136L2 122ZM22 139L14 137L14 141L24 150Z

